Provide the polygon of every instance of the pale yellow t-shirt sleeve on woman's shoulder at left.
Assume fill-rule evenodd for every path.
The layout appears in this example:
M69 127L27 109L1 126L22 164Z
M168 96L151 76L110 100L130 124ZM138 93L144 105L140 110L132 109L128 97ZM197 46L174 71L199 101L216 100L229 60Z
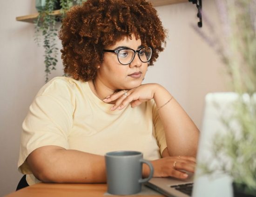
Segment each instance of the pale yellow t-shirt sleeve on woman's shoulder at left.
M68 149L73 124L74 102L71 85L60 78L47 83L36 95L22 124L18 169L31 174L26 159L35 149L54 145Z

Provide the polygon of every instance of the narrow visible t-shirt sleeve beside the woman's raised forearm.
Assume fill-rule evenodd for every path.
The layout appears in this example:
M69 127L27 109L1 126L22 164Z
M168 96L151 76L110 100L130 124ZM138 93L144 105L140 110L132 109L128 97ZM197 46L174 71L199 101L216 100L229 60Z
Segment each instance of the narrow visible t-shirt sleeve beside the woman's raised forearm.
M165 138L164 127L163 127L161 118L159 117L159 114L157 112L155 102L153 102L152 115L153 115L153 124L155 127L155 138L160 148L160 153L162 155L163 150L167 147L167 143Z

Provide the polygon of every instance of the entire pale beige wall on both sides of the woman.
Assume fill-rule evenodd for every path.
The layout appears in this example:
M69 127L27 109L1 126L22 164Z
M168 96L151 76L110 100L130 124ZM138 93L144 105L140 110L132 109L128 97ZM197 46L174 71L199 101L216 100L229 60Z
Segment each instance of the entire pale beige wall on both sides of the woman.
M1 1L0 196L14 191L21 177L17 172L21 123L34 95L44 84L43 50L34 43L34 25L15 21L16 16L35 13L34 2ZM156 9L169 38L166 50L155 66L148 69L144 82L166 87L200 127L204 96L224 90L219 74L221 64L190 27L198 20L194 5L188 2ZM204 0L203 10L216 22L213 0ZM58 75L62 75L61 61L51 77Z

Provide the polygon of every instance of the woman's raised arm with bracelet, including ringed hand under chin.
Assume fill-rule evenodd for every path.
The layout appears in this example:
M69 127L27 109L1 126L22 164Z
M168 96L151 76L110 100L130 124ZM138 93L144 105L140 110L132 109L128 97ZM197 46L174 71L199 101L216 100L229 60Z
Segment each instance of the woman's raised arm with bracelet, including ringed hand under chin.
M129 103L132 107L136 107L142 102L154 99L164 126L169 155L195 157L199 131L175 98L171 98L172 95L161 85L148 83L128 90L127 96L120 91L103 101L111 102L117 99L111 110L121 110Z

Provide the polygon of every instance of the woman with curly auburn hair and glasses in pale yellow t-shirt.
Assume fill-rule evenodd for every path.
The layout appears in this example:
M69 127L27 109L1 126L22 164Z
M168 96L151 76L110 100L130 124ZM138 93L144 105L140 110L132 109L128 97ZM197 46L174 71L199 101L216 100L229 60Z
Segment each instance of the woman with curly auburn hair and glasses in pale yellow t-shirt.
M40 89L23 122L27 183L106 182L104 154L115 150L142 152L155 177L194 172L195 124L161 85L141 84L166 37L152 5L88 0L67 13L59 37L70 77Z

